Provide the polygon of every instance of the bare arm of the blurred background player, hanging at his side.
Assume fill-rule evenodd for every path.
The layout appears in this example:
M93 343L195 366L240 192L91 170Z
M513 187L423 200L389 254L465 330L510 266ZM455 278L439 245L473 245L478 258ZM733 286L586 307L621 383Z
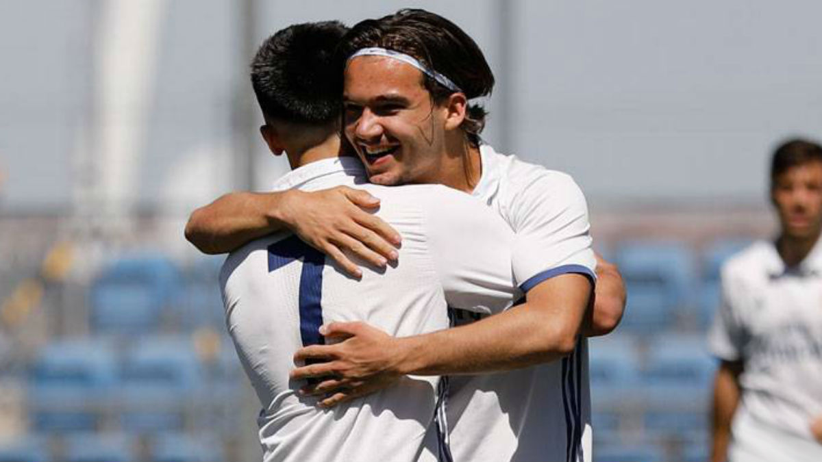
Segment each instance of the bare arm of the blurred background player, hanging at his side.
M722 361L713 378L711 406L711 461L727 460L727 445L731 440L731 421L737 410L741 389L739 375L741 361Z

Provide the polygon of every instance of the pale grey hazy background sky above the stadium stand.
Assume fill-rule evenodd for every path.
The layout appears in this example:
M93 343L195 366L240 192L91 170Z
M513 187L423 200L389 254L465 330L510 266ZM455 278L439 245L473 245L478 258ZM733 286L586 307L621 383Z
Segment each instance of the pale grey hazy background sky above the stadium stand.
M405 6L486 53L486 140L571 173L589 201L760 201L775 144L822 138L822 2L257 0L250 29L240 3L0 2L0 210L71 207L94 182L115 206L183 214L242 186L243 142L266 190L288 166L259 119L238 129L243 34Z

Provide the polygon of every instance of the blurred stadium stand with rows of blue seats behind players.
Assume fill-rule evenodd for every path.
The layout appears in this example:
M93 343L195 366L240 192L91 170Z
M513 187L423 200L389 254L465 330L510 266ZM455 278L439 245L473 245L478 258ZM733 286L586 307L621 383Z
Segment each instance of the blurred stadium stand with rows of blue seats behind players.
M719 268L766 233L661 219L669 229L646 235L613 216L598 247L629 295L617 331L590 340L593 460L705 460ZM66 268L69 247L52 245L58 227L42 229L0 243L0 462L248 460L258 404L225 332L223 257L123 246L83 279Z

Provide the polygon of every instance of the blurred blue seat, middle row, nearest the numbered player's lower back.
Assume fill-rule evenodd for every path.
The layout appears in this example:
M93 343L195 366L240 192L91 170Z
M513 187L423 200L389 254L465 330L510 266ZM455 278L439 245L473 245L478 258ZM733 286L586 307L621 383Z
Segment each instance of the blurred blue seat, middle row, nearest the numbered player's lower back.
M189 337L145 337L122 367L122 427L178 431L187 406L201 398L201 364Z

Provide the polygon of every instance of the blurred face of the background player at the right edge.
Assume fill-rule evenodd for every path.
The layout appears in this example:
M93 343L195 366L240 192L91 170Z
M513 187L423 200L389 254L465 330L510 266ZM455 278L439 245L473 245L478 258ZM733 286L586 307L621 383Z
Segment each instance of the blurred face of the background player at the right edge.
M771 186L771 198L783 235L817 237L822 229L822 162L799 164L779 174Z

